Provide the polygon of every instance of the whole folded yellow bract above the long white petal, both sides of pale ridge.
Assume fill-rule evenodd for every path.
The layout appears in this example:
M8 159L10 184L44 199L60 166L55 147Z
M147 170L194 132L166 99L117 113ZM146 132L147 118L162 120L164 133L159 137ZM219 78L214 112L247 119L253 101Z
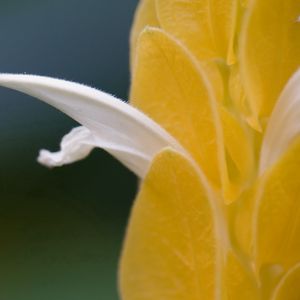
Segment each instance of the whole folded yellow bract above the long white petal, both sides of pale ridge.
M255 170L253 143L246 125L217 101L210 84L216 72L164 31L148 28L137 43L130 99L189 150L231 202Z

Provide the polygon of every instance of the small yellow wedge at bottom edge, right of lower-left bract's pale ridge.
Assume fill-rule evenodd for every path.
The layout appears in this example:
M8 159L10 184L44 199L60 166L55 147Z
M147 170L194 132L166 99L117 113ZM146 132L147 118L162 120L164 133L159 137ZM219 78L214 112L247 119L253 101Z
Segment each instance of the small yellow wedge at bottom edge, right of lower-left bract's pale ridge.
M229 251L224 267L224 299L259 300L260 292L254 274L233 251ZM208 299L208 298L207 298Z

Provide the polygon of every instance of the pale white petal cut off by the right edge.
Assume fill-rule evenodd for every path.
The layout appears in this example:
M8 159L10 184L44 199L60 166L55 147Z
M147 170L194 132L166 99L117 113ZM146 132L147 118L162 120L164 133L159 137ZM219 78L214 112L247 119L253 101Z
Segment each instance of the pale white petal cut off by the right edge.
M273 165L300 134L300 70L285 86L271 114L260 156L260 174Z

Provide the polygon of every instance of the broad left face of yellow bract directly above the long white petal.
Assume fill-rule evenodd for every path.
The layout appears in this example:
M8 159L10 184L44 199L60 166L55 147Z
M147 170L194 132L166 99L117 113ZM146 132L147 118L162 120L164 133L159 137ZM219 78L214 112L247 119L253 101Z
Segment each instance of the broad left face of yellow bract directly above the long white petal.
M137 51L131 103L172 134L220 186L222 132L204 69L160 29L145 30Z

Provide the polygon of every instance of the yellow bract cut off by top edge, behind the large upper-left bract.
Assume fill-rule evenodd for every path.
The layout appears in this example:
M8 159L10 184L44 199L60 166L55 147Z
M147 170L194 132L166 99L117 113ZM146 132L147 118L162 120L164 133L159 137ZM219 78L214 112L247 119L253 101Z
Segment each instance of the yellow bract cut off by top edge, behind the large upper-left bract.
M158 0L161 27L183 41L200 60L233 63L237 0Z

